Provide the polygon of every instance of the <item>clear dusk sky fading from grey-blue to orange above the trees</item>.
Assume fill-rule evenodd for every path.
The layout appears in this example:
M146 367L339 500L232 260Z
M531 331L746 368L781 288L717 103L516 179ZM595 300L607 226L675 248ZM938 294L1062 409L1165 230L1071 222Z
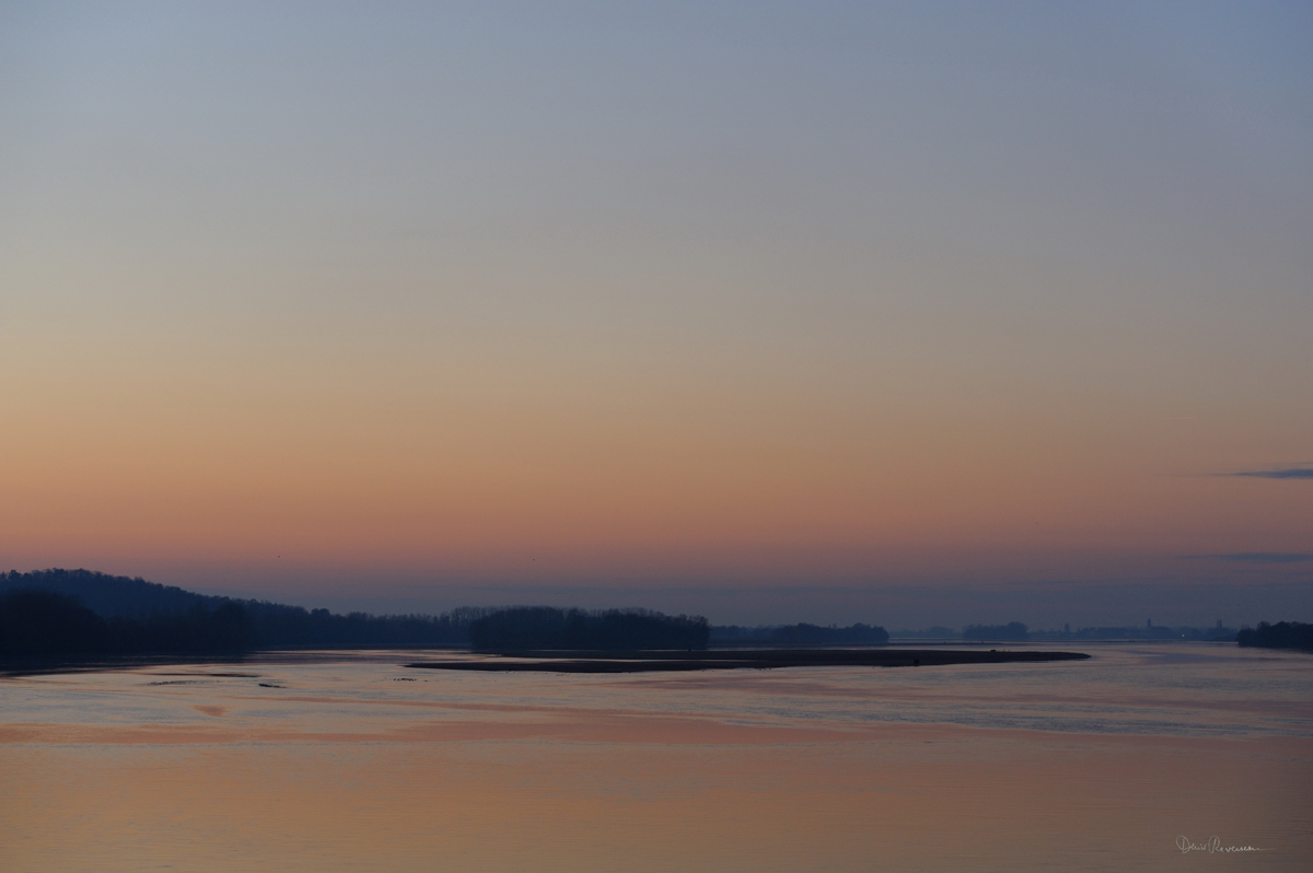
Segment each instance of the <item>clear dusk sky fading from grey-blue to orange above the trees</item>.
M1313 7L0 4L0 568L1313 620Z

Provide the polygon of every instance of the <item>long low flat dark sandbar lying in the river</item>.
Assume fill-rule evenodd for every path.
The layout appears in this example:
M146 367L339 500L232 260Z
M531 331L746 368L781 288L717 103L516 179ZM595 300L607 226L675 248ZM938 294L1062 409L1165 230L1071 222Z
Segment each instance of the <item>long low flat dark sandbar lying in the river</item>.
M406 664L415 670L481 672L638 673L781 667L944 667L1085 660L1074 651L943 651L937 649L741 649L718 651L520 651L478 660Z

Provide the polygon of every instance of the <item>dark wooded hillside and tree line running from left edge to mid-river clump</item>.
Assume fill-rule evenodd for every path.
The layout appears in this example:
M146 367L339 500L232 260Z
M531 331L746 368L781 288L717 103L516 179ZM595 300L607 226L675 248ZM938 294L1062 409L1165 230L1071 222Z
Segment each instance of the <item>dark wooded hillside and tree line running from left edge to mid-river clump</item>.
M466 607L440 616L344 616L87 570L0 574L0 656L7 658L471 643L486 650L705 649L708 634L702 617L643 609Z

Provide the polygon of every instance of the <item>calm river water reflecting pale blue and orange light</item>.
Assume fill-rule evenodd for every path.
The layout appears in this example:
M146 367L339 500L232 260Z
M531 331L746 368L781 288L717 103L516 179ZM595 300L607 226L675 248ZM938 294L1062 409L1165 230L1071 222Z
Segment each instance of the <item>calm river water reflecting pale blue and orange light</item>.
M0 680L0 870L1309 870L1313 656ZM1179 840L1262 852L1183 852ZM1188 848L1188 843L1186 844Z

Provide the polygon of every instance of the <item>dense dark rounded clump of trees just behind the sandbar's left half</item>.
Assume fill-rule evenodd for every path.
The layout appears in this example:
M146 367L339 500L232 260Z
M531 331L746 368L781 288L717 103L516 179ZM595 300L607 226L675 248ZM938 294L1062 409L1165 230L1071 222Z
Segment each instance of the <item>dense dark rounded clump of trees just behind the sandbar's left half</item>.
M554 609L513 607L470 622L479 651L523 649L706 649L710 629L701 616L664 616L646 609Z

